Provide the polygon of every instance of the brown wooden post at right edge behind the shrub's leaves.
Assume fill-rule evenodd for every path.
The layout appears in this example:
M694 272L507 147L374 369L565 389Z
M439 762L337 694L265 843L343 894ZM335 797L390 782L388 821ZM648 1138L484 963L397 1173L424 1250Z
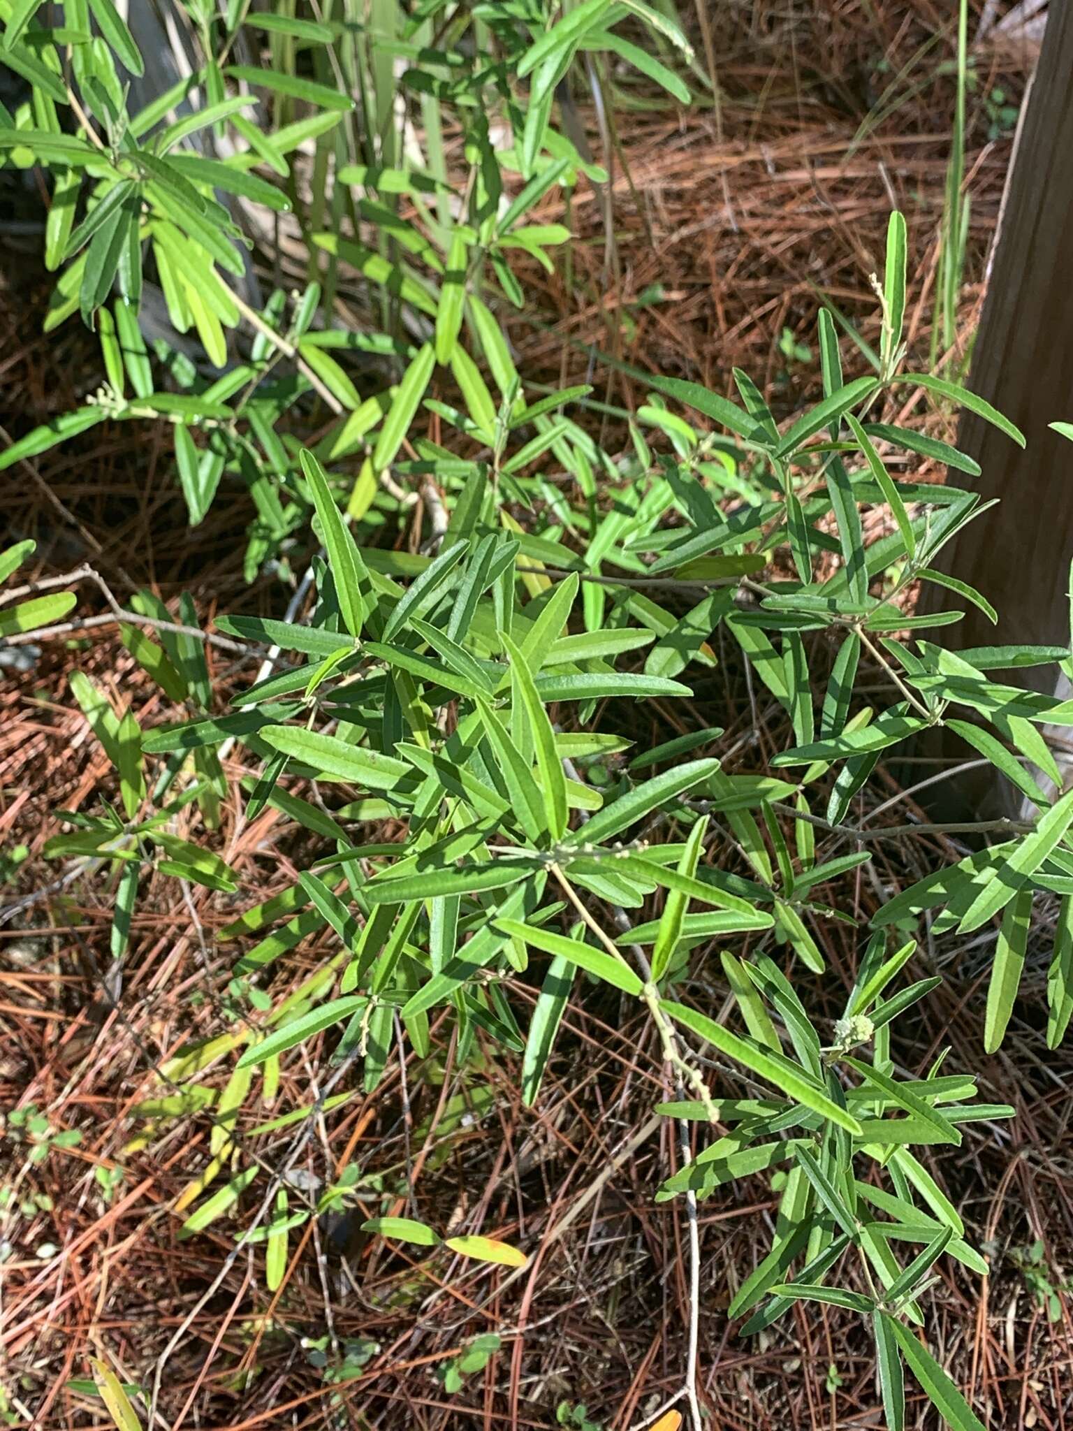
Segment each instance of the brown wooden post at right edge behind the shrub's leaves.
M1070 620L1073 444L1047 424L1073 421L1073 0L1050 0L969 386L1017 424L1027 448L971 414L961 421L957 445L983 468L974 487L1000 505L960 532L937 565L977 587L997 608L999 627L970 607L964 621L937 638L951 647L1062 645ZM970 481L953 478L957 485ZM954 600L926 585L920 610L944 610ZM999 678L1053 691L1054 670L1030 667ZM953 753L949 744L943 753ZM970 778L940 801L980 809L993 807L996 796L1001 803L993 780L989 790Z

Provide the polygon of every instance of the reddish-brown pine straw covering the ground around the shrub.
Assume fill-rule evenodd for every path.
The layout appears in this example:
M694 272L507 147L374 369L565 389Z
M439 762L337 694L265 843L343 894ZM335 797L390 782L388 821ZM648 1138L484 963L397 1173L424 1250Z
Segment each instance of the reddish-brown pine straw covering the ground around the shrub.
M804 352L817 289L850 316L868 311L868 273L894 205L908 216L917 259L910 332L927 349L950 113L949 79L937 69L951 53L950 16L921 0L867 14L801 4L778 13L758 6L748 16L728 10L711 20L718 31L708 50L720 57L724 86L718 114L680 123L650 112L634 127L619 116L612 192L578 199L569 216L582 236L572 270L542 280L535 319L531 311L512 321L528 372L584 376L599 349L718 388L737 363L765 375L770 401L785 411L817 386L814 355ZM977 94L996 86L1019 94L1024 63L981 50ZM884 99L890 83L894 93ZM868 114L893 100L891 113L873 124ZM971 328L1010 152L1009 135L989 137L987 106L976 100L971 114L963 332ZM595 116L582 120L601 149ZM545 218L561 215L549 206ZM536 275L531 290L534 282ZM39 312L27 286L20 276L9 288L0 349L4 411L17 414L19 431L69 409L100 381L96 349L73 325L47 342L33 336ZM595 372L608 381L602 365ZM632 401L632 385L611 382L609 401ZM911 409L888 416L908 421ZM318 415L309 421L315 428ZM246 591L236 570L245 514L217 502L192 541L163 434L146 428L132 448L130 431L99 428L92 444L9 472L3 502L11 535L36 537L49 571L90 560L120 594L150 582L172 598L186 587L206 618L215 602L272 610L278 588ZM714 753L731 771L754 768L765 748L785 746L784 717L731 651L718 654L721 667L691 705L647 703L608 713L608 721L618 717L650 743L685 723L724 726ZM210 658L223 700L230 657ZM107 628L79 661L97 680L119 681L143 724L169 714L153 707L159 697ZM269 1168L293 1162L295 1196L330 1183L351 1162L366 1173L408 1169L423 1216L521 1245L531 1254L522 1275L458 1264L433 1282L403 1252L362 1245L351 1236L352 1222L310 1222L292 1241L288 1276L270 1295L253 1261L230 1255L226 1219L176 1241L182 1219L172 1206L207 1158L209 1123L185 1116L132 1148L140 1125L129 1110L147 1096L162 1060L233 1017L227 983L243 942L220 942L219 930L292 883L309 863L313 837L275 810L250 823L237 809L225 810L219 849L243 876L240 896L192 890L166 903L173 886L159 881L156 899L150 889L139 907L122 986L107 979L104 889L40 859L49 813L77 809L106 777L104 757L69 710L70 664L72 653L46 645L33 670L4 671L1 697L0 1106L9 1123L0 1146L4 1181L16 1191L3 1212L10 1246L0 1379L10 1424L104 1424L100 1401L79 1390L87 1358L104 1347L129 1381L152 1387L159 1378L157 1424L172 1431L552 1427L559 1414L582 1431L647 1424L678 1390L688 1317L681 1224L672 1205L651 1198L677 1151L670 1125L657 1132L651 1120L652 1105L668 1096L652 1030L629 1022L607 990L571 1003L534 1110L521 1109L516 1069L502 1055L462 1078L441 1039L421 1083L396 1059L373 1098L355 1092L315 1125L265 1133L253 1145ZM918 778L933 773L921 766ZM920 816L914 791L898 790L890 774L887 783L887 796L858 811L877 831ZM379 837L391 839L391 829ZM854 871L828 887L825 900L867 919L891 890L931 867L937 839L877 839L871 873ZM844 853L844 841L840 849L837 836L827 837L823 853ZM738 867L730 844L720 860ZM815 933L848 987L847 930L830 924ZM1063 1152L1069 1069L1062 1053L1046 1052L1034 1015L1043 1007L1046 920L1033 936L1016 1027L1000 1056L983 1059L991 937L929 942L921 973L941 970L946 983L921 1005L911 1043L896 1050L917 1075L953 1045L960 1066L980 1069L984 1096L1017 1108L997 1138L993 1128L970 1129L961 1156L937 1169L993 1271L983 1299L974 1282L947 1274L931 1298L931 1344L991 1424L1060 1427L1073 1384L1062 1289L1073 1244ZM273 997L323 957L313 940L280 960ZM690 987L691 1000L714 1016L727 997L717 970L712 949ZM519 982L514 995L524 1000L532 990ZM837 1012L833 1006L831 1016ZM316 1066L295 1060L286 1072L278 1108L308 1102ZM733 1076L727 1092L737 1093ZM29 1105L47 1118L47 1136L59 1135L40 1161L30 1146L46 1135L10 1119L11 1109ZM69 1136L76 1132L77 1141ZM881 1425L871 1357L854 1318L798 1305L790 1328L750 1342L727 1321L730 1296L755 1262L760 1219L773 1215L774 1203L755 1188L751 1199L738 1189L701 1209L702 1400L712 1427ZM484 1367L466 1369L459 1352L479 1334L495 1334L499 1347ZM585 1414L577 1410L582 1404ZM564 1405L569 1411L559 1412Z

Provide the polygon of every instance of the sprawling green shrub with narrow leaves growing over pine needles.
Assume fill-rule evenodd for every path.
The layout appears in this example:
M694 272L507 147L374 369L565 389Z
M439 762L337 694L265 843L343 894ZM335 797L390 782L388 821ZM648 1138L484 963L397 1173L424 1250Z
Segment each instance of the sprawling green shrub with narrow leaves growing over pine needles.
M901 216L890 225L874 373L843 381L824 311L824 396L790 425L775 424L744 373L734 375L740 402L640 375L647 402L634 415L612 414L632 448L608 452L587 422L589 388L526 391L479 292L494 283L506 301L522 301L511 250L544 262L545 248L568 238L557 226L526 225L528 210L551 186L595 172L548 124L555 84L578 49L615 53L681 97L681 80L662 62L609 29L640 17L652 49L655 36L684 50L664 11L637 0L587 0L545 29L535 3L448 10L436 0L412 16L375 6L392 26L385 37L355 36L343 21L250 16L235 4L226 20L213 7L189 10L205 64L185 92L197 89L210 103L169 122L179 93L126 114L117 76L123 66L136 72L137 56L109 0L66 4L66 29L54 37L33 27L34 4L9 3L4 59L30 79L33 100L3 116L0 129L13 162L39 162L53 175L47 259L63 272L50 325L77 311L96 322L109 372L94 404L30 434L0 464L106 414L163 414L175 425L192 522L205 517L225 474L249 488L250 578L269 561L286 565L313 551L298 588L299 597L315 591L306 620L295 601L280 620L219 617L206 635L189 598L170 612L150 592L117 612L124 644L176 720L143 730L133 710L114 708L89 677L72 680L116 776L92 813L60 813L70 829L49 854L82 860L113 881L117 959L153 873L239 892L239 874L209 834L233 794L223 746L240 743L259 770L243 781L248 819L272 804L309 830L320 851L293 887L253 903L223 930L225 939L258 936L233 967L239 1016L162 1066L160 1095L136 1109L142 1146L176 1118L212 1123L212 1161L179 1199L182 1235L230 1215L253 1189L258 1211L237 1239L263 1244L265 1276L278 1286L289 1232L345 1202L356 1171L346 1169L320 1205L292 1208L288 1166L269 1173L248 1153L258 1133L293 1126L300 1151L313 1115L351 1096L336 1089L352 1068L373 1090L396 1036L426 1058L429 1016L444 1010L459 1063L475 1056L478 1032L486 1046L521 1055L522 1098L532 1105L568 999L591 983L611 986L658 1030L677 1096L657 1112L720 1125L657 1199L682 1196L692 1215L697 1199L720 1185L768 1171L780 1189L771 1246L731 1304L731 1315L747 1318L744 1332L771 1325L798 1298L858 1312L874 1329L891 1428L904 1420L903 1362L950 1425L979 1427L914 1328L940 1258L981 1275L987 1266L914 1149L956 1148L963 1123L1011 1109L974 1102L973 1076L941 1070L941 1058L924 1079L898 1078L891 1026L939 983L903 979L921 913L933 912L936 933L977 930L1001 916L983 1030L996 1047L1017 996L1033 894L1043 890L1062 896L1049 1039L1064 1033L1073 1010L1073 793L1052 796L1037 774L1062 788L1039 726L1066 723L1073 704L989 673L1044 661L1069 670L1070 653L987 647L954 655L920 633L959 620L956 612L923 618L903 610L904 594L924 580L990 611L934 565L983 508L970 491L894 479L881 454L976 469L953 448L878 421L884 394L924 389L1021 438L970 392L903 371ZM90 17L107 43L89 40ZM268 31L270 70L225 63L245 27ZM423 122L422 166L392 129L399 57L411 62L403 93ZM361 123L340 99L339 76L361 94ZM245 100L230 92L245 84L272 96L278 123L253 129L242 120ZM295 117L298 103L312 113ZM76 133L60 120L67 106ZM441 106L462 124L462 189L435 139ZM512 147L492 145L494 114L509 123ZM189 146L197 124L249 147L223 160L199 156ZM300 216L316 279L295 299L272 295L255 313L223 276L237 276L242 260L215 192L295 205L288 155L308 139L315 175L330 169L336 180L330 213L315 189ZM515 197L505 199L508 192ZM403 196L405 215L395 202ZM150 260L175 328L195 329L222 366L225 328L246 321L256 335L248 361L215 382L190 368L185 391L156 389L136 322L139 275ZM382 289L383 329L316 329L318 315L332 312L325 295L352 270ZM109 308L113 285L119 296ZM398 359L398 382L363 396L342 362L355 351ZM182 378L182 363L169 362ZM461 408L431 395L455 391ZM278 426L310 394L338 418L305 449ZM422 436L423 412L451 432L449 445ZM568 474L567 487L544 475L547 455ZM333 475L355 456L356 481ZM411 519L415 492L426 498L419 554L382 541ZM890 531L866 547L860 514L874 507L888 511ZM0 574L10 577L27 555L29 544L13 548ZM64 631L74 601L67 591L27 588L0 612L0 635ZM607 701L690 695L681 677L715 663L715 631L741 651L793 731L790 748L767 768L721 770L708 753L721 734L711 727L638 751L595 718ZM209 678L206 641L248 663L249 680L226 707ZM894 693L886 708L874 710L856 688L861 655ZM828 664L820 691L815 673ZM940 724L1039 814L881 904L871 930L860 933L844 1015L821 1032L810 1003L825 970L810 926L854 919L817 896L870 859L880 831L853 811L880 754ZM313 781L322 791L315 801L292 788ZM196 841L175 833L176 816L195 803L206 831ZM385 820L403 834L369 843L359 833L355 843L352 831ZM711 857L717 836L734 843L748 874ZM821 857L817 840L828 837L836 849L848 840L853 853ZM273 1002L273 964L322 929L338 939L336 954ZM694 952L733 946L741 934L750 936L748 952L721 954L733 1029L687 1000ZM785 957L774 957L783 949ZM505 992L515 976L539 985L525 1030ZM272 1103L290 1050L325 1032L316 1096L258 1128L243 1118L239 1142L243 1110L262 1095ZM205 1073L222 1063L230 1073L217 1088ZM720 1085L731 1079L744 1096L720 1093L712 1068ZM398 1191L382 1189L385 1212ZM479 1236L444 1242L416 1219L385 1215L366 1229L431 1258L444 1244L464 1256L525 1264L524 1249ZM848 1262L858 1266L853 1285ZM481 1355L472 1368L461 1358L446 1375L458 1381ZM685 1377L695 1408L692 1359Z

